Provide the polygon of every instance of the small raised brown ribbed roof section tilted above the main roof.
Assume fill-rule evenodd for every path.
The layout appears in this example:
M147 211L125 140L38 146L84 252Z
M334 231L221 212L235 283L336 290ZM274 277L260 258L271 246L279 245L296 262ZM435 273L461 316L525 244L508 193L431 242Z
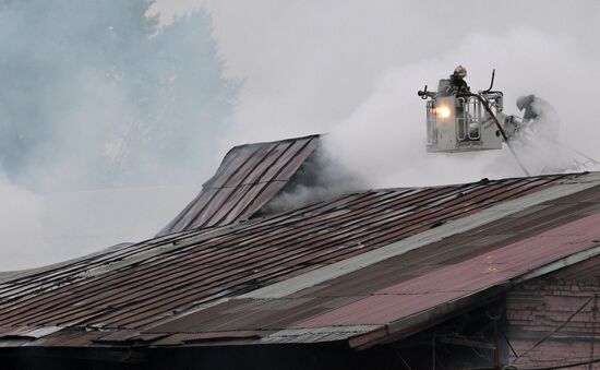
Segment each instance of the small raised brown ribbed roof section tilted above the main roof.
M316 150L319 135L236 146L200 194L160 232L250 218L291 180Z

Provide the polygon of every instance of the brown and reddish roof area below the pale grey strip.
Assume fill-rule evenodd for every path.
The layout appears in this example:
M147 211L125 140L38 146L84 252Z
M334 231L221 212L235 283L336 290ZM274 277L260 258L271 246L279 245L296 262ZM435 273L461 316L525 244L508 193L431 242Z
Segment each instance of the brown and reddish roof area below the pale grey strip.
M334 326L345 333L344 327L371 325L346 338L368 335L375 329L391 335L423 324L417 321L418 314L431 320L429 313L443 305L458 305L551 262L578 252L590 251L585 258L600 253L599 204L600 188L595 187L547 203L543 212L526 210L476 232L453 236L291 296L235 299L152 330L288 327L317 333ZM447 310L443 312L447 314ZM410 322L403 324L407 320ZM338 338L344 336L339 333ZM290 341L296 339L285 339Z

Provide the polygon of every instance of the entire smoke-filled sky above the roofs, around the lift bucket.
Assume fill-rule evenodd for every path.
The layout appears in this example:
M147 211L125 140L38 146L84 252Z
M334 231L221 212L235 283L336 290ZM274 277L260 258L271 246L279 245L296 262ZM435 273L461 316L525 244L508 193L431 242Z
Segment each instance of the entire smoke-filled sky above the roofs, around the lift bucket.
M0 1L0 12L5 3L10 1ZM0 76L4 87L0 94L0 126L12 114L24 111L38 112L31 116L32 121L43 117L57 124L48 132L33 131L37 133L36 145L25 163L11 168L7 163L2 165L5 176L0 181L0 225L4 241L0 270L59 261L113 242L149 237L191 199L230 146L248 142L328 132L324 139L326 155L355 174L357 183L370 188L523 175L507 151L425 153L424 102L416 92L425 84L436 86L439 79L446 77L456 64L467 67L467 80L475 91L488 87L495 68L495 87L505 93L507 114L517 112L514 103L520 95L543 97L561 116L561 141L600 157L595 112L600 81L598 1L382 0L367 4L348 0L158 0L148 15L160 17L160 29L166 35L151 38L151 44L159 44L159 55L148 53L135 43L111 44L111 32L122 36L117 40L131 41L127 26L109 27L115 20L131 24L125 16L130 13L117 4L133 1L100 1L103 11L92 12L95 15L91 19L81 15L91 3L87 1L61 2L63 10L69 11L62 14L56 2L22 3L44 5L47 11L35 12L39 19L14 14L3 19L0 40L12 49L4 49L0 63L12 58L16 72L26 63L41 63L52 73L46 76L47 89L22 88L29 86L23 81L35 81L38 75L15 74L26 76L25 80L7 80L10 73ZM214 29L184 25L185 15L202 7L208 11L204 16L211 16ZM53 15L44 17L48 12ZM36 32L39 27L33 25L41 21L56 32ZM86 32L89 24L105 29L106 37L91 37ZM63 32L69 29L76 29L77 37L65 37ZM208 39L207 35L214 37L213 43L199 46L199 40ZM49 40L61 40L63 49L49 47ZM85 47L81 50L86 52L75 57L84 59L86 68L73 68L68 63L72 58L62 58L70 55L65 50L73 45ZM148 46L145 41L141 45ZM182 49L187 51L180 52ZM196 73L206 71L197 68L205 56L202 50L220 58L209 69L208 74L217 79L214 81L223 72L229 81L244 82L230 118L220 115L235 100L235 96L226 94L230 89L201 89L206 99L217 96L212 106L217 107L219 117L225 117L218 123L197 112L200 99L193 98L202 76ZM52 57L50 62L48 56ZM98 65L108 64L98 61L110 60L109 56L123 63L137 60L141 64L124 74L113 74L115 79L107 83L105 70ZM184 61L179 64L182 69L165 68L175 65L173 60ZM156 71L160 72L158 77ZM173 80L173 71L183 73ZM133 76L134 88L117 88L123 76ZM160 84L173 81L182 84ZM169 95L171 87L178 87L180 94ZM59 104L43 98L32 105L28 94L55 95ZM129 123L145 120L159 124L121 126L123 117ZM208 124L195 124L201 118ZM177 127L176 122L187 126ZM160 138L169 138L175 145L151 140ZM189 138L194 141L187 141L190 145L178 151L177 143ZM153 147L167 148L163 154L170 155L157 156L151 151ZM92 151L95 154L89 156ZM540 152L524 153L531 168L543 167L544 155L540 164ZM3 155L7 153L20 156L13 150L2 151ZM115 167L109 164L115 160L120 164L117 168L122 177L113 176ZM339 178L329 178L329 183L335 188L336 182L344 182ZM142 190L91 190L108 183ZM145 188L167 183L175 188ZM187 190L178 188L184 183L191 186ZM40 193L41 189L46 192ZM52 192L48 193L48 189ZM71 192L57 192L65 189ZM338 190L320 186L323 194ZM301 188L295 194L302 199L314 195ZM161 202L161 206L144 207L154 201ZM291 202L297 202L297 198L291 198ZM91 212L95 208L100 211ZM77 223L77 218L88 222L87 226ZM115 225L118 220L122 228ZM94 228L92 224L106 227ZM135 225L145 225L145 230L135 230ZM49 235L53 242L48 242Z

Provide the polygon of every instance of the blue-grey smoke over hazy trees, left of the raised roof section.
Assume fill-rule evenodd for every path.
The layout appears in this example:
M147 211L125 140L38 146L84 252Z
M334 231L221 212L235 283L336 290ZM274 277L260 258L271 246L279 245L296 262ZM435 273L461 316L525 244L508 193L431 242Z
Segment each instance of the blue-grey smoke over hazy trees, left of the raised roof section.
M148 238L218 163L240 85L206 12L151 5L0 1L0 270Z

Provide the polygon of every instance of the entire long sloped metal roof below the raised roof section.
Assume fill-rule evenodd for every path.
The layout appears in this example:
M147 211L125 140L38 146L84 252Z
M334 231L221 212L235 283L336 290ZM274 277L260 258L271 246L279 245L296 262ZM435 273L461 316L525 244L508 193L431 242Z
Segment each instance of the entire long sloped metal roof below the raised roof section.
M0 345L371 345L596 253L599 184L581 174L355 192L120 246L2 282Z

